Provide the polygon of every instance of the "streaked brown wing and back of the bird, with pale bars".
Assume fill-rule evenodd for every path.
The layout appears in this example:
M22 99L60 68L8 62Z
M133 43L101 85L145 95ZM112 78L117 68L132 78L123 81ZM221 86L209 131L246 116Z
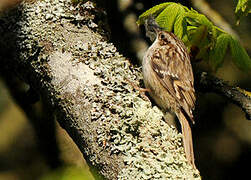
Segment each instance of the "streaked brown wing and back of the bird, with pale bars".
M195 91L192 67L187 52L183 52L186 55L183 57L177 51L178 49L173 45L156 49L151 58L151 67L162 86L176 99L193 121Z

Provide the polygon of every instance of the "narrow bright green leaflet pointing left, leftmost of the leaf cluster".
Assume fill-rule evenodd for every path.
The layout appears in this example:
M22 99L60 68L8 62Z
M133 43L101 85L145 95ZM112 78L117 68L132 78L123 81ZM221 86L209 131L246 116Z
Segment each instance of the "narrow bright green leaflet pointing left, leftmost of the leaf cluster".
M146 12L144 12L139 16L139 19L136 23L138 25L144 24L148 16L153 15L154 17L156 17L161 11L163 11L170 4L171 2L162 3L152 7L151 9L148 9Z

